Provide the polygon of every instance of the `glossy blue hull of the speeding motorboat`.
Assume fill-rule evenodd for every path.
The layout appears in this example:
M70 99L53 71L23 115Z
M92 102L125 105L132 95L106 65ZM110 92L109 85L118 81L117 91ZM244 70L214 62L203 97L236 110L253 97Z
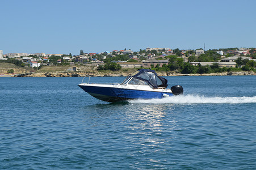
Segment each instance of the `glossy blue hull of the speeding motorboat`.
M91 96L103 101L116 102L132 99L161 99L163 94L173 96L172 93L142 90L129 90L124 88L79 86Z

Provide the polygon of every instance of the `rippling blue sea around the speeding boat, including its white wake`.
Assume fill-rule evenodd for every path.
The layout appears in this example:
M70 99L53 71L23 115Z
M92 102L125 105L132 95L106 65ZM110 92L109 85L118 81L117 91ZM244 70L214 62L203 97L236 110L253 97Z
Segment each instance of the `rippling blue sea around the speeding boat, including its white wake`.
M0 169L256 169L256 76L165 78L184 95L118 104L81 77L0 78Z

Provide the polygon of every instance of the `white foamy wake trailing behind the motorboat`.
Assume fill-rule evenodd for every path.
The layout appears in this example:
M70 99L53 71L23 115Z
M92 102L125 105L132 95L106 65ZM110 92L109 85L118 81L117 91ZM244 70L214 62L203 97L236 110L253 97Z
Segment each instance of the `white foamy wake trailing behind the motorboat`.
M165 97L163 99L150 100L130 100L129 103L146 103L146 104L242 104L256 103L256 96L253 97L204 97L199 95L183 95Z

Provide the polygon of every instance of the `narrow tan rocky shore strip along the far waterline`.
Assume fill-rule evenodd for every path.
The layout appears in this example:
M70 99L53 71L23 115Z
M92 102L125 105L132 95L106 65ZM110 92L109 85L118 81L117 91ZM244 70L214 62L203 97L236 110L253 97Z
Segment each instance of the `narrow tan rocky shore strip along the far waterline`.
M24 73L24 74L16 74L17 77L74 77L74 76L128 76L131 73L125 72L115 72L111 71L109 73L101 73L97 71L93 71L91 73L85 72L51 72L51 73ZM174 72L157 72L160 76L224 76L224 75L256 75L253 71L237 71L237 72L225 72L225 73L211 73L211 74L181 74Z

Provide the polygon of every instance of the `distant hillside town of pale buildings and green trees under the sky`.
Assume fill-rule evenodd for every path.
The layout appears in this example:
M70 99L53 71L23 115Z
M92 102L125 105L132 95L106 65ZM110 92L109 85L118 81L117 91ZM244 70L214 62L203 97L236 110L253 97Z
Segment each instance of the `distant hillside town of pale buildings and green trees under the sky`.
M139 52L131 49L79 55L45 53L7 53L0 50L0 62L10 62L22 67L40 70L44 66L96 66L98 70L150 68L180 73L216 73L232 70L255 71L256 48L223 48L180 50L171 48L146 48ZM9 71L10 73L12 71Z

